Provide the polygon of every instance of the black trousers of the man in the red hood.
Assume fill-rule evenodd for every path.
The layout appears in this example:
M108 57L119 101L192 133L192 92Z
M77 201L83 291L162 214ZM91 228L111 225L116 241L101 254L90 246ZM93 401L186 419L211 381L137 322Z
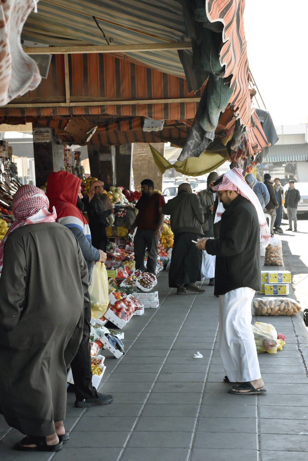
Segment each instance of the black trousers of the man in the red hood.
M92 385L92 368L90 355L90 319L91 301L89 291L85 294L89 302L84 306L83 339L79 344L79 349L75 358L71 362L76 399L80 402L89 397L98 397L95 387Z

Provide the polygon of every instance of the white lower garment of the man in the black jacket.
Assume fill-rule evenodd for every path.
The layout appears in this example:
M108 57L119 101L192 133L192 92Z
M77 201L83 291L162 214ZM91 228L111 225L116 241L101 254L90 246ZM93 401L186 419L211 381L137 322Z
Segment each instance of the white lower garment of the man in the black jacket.
M251 331L251 301L255 290L237 288L219 295L219 350L231 382L261 378L254 334Z

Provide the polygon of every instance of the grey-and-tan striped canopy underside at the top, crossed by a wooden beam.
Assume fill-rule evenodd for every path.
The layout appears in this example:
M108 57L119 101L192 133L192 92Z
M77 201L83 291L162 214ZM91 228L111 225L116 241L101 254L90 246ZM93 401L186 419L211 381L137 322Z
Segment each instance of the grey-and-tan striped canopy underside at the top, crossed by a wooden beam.
M184 41L180 0L40 0L26 20L22 38L48 45L108 46ZM184 77L177 50L126 53L144 65Z

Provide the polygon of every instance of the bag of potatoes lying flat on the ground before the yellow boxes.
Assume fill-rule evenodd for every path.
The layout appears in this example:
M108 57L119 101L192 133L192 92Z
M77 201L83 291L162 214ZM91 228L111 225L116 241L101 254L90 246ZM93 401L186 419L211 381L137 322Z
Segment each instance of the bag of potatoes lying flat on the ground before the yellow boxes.
M255 298L252 302L255 315L293 315L302 307L290 298Z

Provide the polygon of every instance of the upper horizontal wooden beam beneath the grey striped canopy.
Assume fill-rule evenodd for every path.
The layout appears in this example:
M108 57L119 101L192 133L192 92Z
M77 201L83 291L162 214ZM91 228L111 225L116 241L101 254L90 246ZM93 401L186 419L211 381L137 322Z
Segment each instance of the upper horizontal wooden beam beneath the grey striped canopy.
M78 47L24 47L27 54L129 53L191 49L191 42L144 43L135 45L89 45Z

